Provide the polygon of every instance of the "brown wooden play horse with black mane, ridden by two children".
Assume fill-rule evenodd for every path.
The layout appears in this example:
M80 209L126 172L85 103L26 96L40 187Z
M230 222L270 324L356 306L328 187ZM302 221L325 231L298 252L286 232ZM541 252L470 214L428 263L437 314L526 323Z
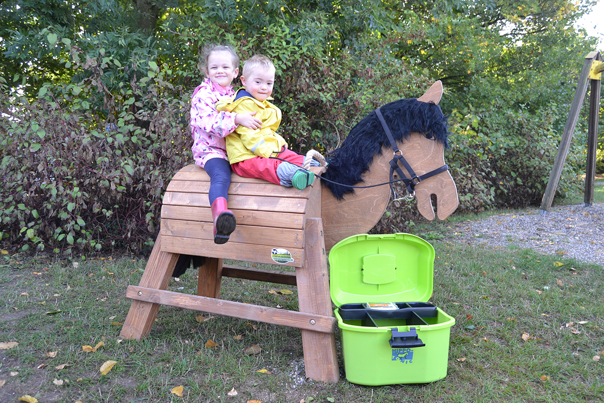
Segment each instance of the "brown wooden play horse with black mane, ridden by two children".
M437 82L418 100L437 104L441 95L442 85ZM388 121L388 108L384 108ZM395 131L394 127L391 129ZM399 134L396 140L406 161L420 178L445 164L446 139L436 141L431 134L425 133L429 130L422 129L422 134L403 133L402 137ZM340 156L344 153L345 143L347 141L338 152ZM364 170L358 185L388 182L392 153L389 147L387 142L380 141L380 152L367 161L370 169ZM327 172L323 167L313 170L326 175L332 163L335 170L337 161L328 159L328 162ZM326 254L339 240L365 233L376 224L387 206L390 189L385 185L355 189L350 193L352 189L347 188L344 193L349 194L342 198L339 193L337 198L321 186L320 179L304 190L297 190L234 174L231 178L229 208L236 216L237 228L229 242L217 245L213 242L208 175L203 169L190 165L173 177L163 199L161 230L143 277L138 286L129 286L126 292L133 301L121 337L137 340L146 337L159 305L296 327L302 331L307 378L338 381L336 320L329 294ZM428 219L434 218L432 194L437 195L440 219L445 219L457 208L457 190L447 170L417 184L417 207ZM199 268L197 295L165 291L180 254L207 257ZM294 266L295 273L224 265L223 259ZM221 300L222 277L297 285L300 311Z

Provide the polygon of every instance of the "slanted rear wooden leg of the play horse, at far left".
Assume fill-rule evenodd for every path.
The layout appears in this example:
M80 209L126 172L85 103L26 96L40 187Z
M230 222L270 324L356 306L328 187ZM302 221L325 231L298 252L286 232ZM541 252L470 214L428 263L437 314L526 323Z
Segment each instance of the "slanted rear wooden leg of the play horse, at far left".
M167 289L178 256L178 253L162 252L158 237L138 285L147 288ZM141 340L141 338L149 335L158 309L159 304L133 300L124 321L124 326L121 327L120 337Z

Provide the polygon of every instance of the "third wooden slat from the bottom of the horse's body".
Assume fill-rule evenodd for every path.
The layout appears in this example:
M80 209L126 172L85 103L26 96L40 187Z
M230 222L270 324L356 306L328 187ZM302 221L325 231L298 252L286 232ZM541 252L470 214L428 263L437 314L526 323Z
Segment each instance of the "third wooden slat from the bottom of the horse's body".
M233 210L237 225L256 225L273 228L304 228L304 214L275 213L272 211ZM213 222L209 207L162 205L162 219Z

